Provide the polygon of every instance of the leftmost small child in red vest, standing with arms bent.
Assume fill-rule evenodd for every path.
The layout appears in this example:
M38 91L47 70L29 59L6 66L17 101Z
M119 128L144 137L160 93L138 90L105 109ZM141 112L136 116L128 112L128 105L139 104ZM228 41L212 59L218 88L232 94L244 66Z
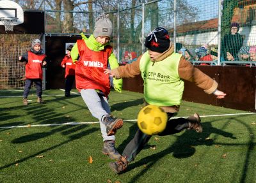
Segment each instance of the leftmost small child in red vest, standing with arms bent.
M41 41L35 39L31 43L31 49L24 55L19 56L20 62L26 62L25 73L25 86L23 93L23 104L28 105L28 94L31 89L31 85L35 82L37 102L42 104L42 80L43 70L42 67L47 64L45 61L46 55L41 48Z

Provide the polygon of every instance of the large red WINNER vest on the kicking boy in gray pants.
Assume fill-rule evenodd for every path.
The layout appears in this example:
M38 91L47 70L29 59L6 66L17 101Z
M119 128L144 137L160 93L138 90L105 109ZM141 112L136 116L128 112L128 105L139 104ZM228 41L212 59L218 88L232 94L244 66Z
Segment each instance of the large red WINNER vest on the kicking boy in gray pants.
M76 62L76 88L98 89L108 96L110 92L109 75L104 74L108 68L108 58L112 47L107 46L104 50L94 52L86 46L84 40L77 40L79 61Z

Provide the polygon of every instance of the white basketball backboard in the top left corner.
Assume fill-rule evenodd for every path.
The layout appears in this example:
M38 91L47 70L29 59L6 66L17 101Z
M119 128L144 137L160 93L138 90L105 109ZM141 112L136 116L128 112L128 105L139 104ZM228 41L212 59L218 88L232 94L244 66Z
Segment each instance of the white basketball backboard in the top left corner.
M1 0L0 1L0 18L15 18L17 19L13 22L13 26L17 26L24 22L23 10L19 4L9 1L9 0ZM0 21L0 25L4 25L3 22Z

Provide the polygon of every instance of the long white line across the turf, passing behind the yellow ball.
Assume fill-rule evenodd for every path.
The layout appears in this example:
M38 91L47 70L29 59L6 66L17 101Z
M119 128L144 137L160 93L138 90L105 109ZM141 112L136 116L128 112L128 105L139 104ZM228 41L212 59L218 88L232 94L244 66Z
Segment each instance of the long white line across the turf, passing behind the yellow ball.
M221 117L221 116L230 116L230 115L249 115L249 114L256 114L255 112L248 112L248 113L226 113L226 114L216 114L216 115L201 115L200 117ZM188 117L188 116L186 116ZM183 118L186 118L183 117ZM180 117L172 117L172 119L177 119ZM128 121L137 121L137 119L127 119L124 122ZM30 127L38 127L38 126L61 126L61 125L79 125L79 124L95 124L99 123L99 121L92 121L92 122L65 122L65 123L56 123L56 124L29 124L29 125L20 125L20 126L2 126L0 129L8 129L8 128L30 128Z

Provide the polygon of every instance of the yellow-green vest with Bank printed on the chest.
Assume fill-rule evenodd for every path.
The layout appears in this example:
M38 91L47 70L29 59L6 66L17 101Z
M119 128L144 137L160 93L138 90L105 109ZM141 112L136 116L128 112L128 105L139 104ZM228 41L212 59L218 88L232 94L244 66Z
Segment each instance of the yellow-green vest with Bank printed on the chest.
M184 90L184 81L178 73L181 56L173 53L163 61L153 64L148 52L142 55L140 70L147 103L157 106L180 105Z

